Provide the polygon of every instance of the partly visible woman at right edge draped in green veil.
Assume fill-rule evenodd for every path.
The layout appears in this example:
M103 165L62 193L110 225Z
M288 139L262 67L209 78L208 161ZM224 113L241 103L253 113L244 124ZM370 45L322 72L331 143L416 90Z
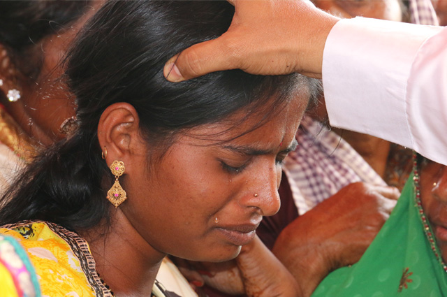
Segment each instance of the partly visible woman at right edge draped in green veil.
M362 259L330 273L312 296L446 296L447 167L414 158L390 219Z

